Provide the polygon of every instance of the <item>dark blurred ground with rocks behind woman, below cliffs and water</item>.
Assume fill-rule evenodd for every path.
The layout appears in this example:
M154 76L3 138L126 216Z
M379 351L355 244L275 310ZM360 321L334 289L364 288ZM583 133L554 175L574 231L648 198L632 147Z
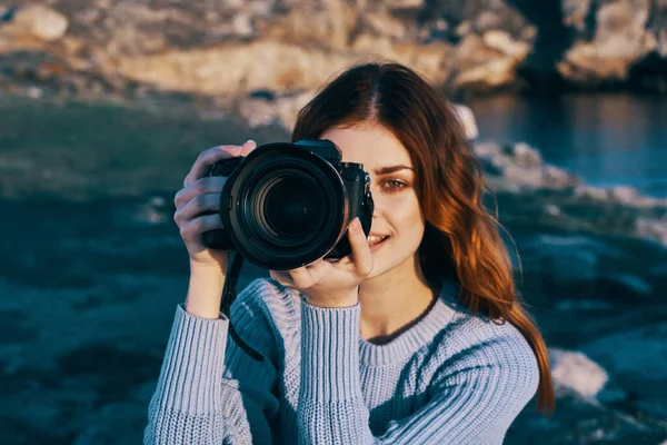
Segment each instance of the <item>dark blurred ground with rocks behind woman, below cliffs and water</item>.
M288 137L276 125L202 119L195 109L0 102L6 443L140 442L187 289L173 192L202 147ZM520 254L519 288L550 348L558 394L551 419L528 406L507 443L659 444L664 202L586 187L525 145L474 144ZM245 268L240 286L258 276L266 271Z

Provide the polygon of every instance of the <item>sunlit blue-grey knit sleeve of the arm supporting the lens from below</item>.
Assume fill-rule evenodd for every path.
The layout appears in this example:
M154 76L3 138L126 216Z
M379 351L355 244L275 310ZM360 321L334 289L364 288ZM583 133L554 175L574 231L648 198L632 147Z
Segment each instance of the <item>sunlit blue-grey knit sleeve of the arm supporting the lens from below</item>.
M374 436L360 388L359 315L359 305L302 305L300 443L501 444L537 389L527 342L511 326L494 325L502 330L445 358L425 406Z

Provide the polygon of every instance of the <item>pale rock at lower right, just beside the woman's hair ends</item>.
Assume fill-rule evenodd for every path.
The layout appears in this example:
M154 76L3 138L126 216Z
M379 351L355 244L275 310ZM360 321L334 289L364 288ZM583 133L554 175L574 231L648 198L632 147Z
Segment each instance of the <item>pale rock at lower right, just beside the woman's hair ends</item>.
M549 349L555 390L571 392L584 398L595 398L609 380L607 373L585 354L559 348Z

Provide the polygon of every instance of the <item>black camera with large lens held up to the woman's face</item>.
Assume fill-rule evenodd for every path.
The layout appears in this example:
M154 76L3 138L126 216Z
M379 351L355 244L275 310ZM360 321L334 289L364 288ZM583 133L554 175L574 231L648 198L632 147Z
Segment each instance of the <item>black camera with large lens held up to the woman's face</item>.
M219 210L225 228L203 233L202 244L272 270L349 255L348 224L359 217L368 236L374 201L364 165L341 159L330 140L302 139L216 162L209 176L227 177Z

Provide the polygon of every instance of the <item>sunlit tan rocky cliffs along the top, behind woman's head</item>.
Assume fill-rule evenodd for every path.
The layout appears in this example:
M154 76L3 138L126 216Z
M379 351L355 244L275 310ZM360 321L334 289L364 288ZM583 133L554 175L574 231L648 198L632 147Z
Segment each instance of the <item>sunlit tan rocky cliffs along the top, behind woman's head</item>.
M667 3L0 1L1 90L293 95L369 57L408 63L451 93L666 92Z

